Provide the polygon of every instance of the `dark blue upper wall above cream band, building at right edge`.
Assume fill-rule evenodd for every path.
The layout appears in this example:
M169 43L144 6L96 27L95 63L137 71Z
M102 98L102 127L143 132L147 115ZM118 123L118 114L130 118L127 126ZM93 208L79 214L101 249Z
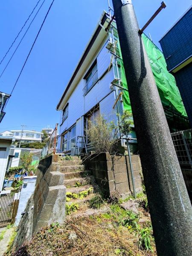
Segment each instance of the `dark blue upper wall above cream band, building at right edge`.
M160 40L169 71L192 55L191 20L192 8Z

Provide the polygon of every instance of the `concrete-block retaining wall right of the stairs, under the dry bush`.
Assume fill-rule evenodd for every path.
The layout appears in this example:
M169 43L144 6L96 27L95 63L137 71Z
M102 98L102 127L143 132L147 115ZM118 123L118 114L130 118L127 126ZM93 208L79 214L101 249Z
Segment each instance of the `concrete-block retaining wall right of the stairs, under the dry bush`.
M132 155L131 160L136 191L140 191L142 184L140 157ZM84 157L84 164L107 196L115 191L124 194L133 190L128 156L111 156L109 153L93 154L89 158Z

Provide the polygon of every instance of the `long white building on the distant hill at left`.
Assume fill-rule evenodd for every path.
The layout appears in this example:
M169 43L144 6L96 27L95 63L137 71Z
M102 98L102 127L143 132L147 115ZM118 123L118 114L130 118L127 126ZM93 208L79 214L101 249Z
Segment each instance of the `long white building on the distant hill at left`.
M41 142L43 133L39 131L29 131L29 130L11 130L15 139L19 139L25 143L31 142Z

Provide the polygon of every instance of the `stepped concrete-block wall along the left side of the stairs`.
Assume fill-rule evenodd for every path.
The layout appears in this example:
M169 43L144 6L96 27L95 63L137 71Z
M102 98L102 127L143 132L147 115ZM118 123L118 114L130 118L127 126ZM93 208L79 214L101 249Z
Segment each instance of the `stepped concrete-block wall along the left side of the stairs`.
M33 233L53 222L64 223L66 187L57 155L39 162L34 192Z

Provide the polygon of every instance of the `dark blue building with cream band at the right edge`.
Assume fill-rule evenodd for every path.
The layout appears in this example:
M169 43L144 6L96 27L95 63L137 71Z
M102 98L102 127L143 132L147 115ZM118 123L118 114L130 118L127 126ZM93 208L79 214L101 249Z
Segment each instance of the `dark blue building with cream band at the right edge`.
M167 69L175 76L192 127L192 6L160 39Z

